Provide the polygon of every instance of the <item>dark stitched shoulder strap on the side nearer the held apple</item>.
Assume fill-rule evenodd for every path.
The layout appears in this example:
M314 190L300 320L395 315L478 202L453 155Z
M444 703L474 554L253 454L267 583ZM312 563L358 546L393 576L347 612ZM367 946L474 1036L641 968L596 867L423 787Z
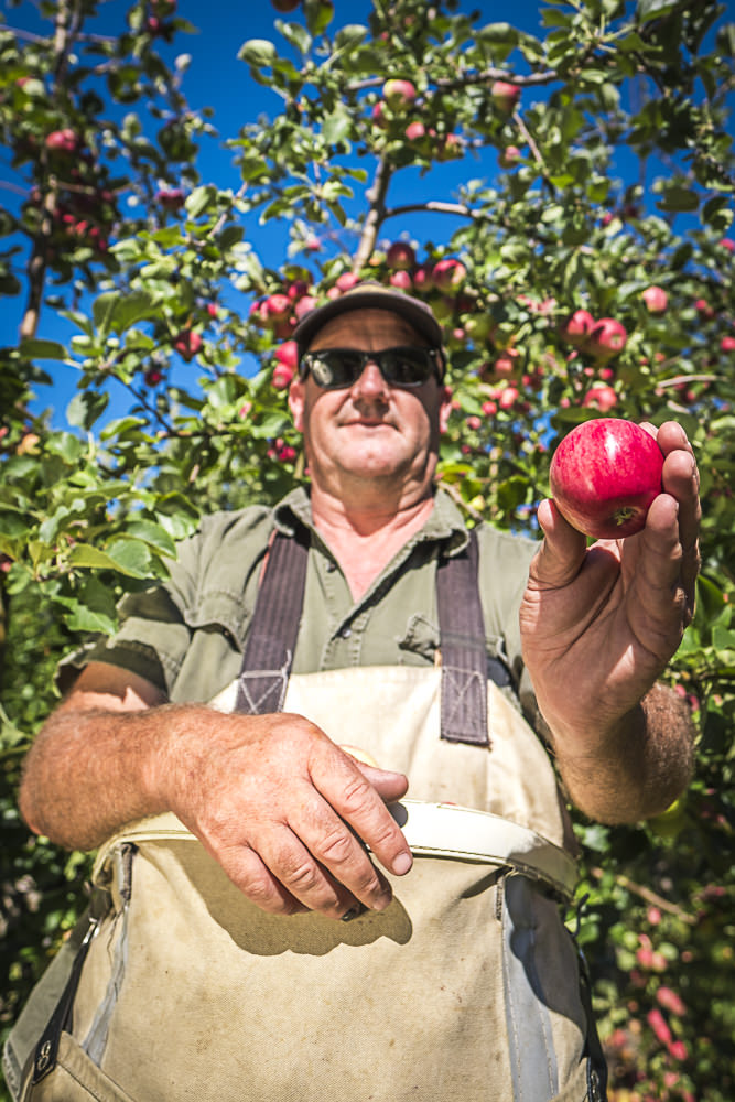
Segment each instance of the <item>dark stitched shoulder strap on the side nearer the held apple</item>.
M477 536L473 529L466 549L441 559L436 570L442 738L487 746L487 652L477 561Z

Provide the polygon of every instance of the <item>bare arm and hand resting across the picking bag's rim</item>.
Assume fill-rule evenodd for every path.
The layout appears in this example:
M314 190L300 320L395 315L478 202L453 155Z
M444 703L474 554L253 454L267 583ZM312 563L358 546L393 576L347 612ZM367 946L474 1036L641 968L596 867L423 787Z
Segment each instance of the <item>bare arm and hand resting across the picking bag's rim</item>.
M165 704L144 679L90 663L32 747L21 811L68 849L173 811L267 911L380 910L411 853L387 803L402 774L358 763L300 715Z

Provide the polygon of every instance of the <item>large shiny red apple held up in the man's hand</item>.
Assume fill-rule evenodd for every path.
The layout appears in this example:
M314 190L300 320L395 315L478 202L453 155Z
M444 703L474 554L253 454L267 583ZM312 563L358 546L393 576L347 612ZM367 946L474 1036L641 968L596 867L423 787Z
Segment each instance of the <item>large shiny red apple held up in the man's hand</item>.
M595 418L566 435L551 461L551 493L585 536L616 540L639 532L661 493L663 454L631 421Z

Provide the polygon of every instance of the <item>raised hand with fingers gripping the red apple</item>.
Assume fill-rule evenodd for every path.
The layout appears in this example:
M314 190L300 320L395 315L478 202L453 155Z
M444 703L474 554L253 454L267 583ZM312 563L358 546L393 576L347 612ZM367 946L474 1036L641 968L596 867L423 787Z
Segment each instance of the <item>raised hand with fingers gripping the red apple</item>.
M552 732L614 728L660 677L692 619L699 571L699 473L683 429L656 432L662 493L646 527L587 548L552 500L520 613L523 656Z

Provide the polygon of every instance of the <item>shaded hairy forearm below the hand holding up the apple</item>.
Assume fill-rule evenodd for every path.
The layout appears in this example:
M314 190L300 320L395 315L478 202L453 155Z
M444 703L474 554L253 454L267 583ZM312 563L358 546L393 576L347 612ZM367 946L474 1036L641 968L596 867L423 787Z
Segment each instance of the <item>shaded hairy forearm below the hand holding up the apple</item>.
M607 730L550 727L569 796L591 819L638 822L664 811L692 773L694 725L688 704L656 684L640 705Z

